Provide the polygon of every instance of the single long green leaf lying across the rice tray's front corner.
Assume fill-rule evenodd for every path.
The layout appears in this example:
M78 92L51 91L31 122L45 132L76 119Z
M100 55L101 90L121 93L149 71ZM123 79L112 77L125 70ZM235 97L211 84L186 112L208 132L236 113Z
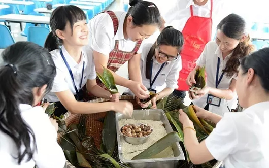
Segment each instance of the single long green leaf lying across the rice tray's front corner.
M133 157L132 160L151 158L166 149L167 147L179 141L181 141L179 133L170 132L166 136L162 137L160 140L152 144L146 150Z

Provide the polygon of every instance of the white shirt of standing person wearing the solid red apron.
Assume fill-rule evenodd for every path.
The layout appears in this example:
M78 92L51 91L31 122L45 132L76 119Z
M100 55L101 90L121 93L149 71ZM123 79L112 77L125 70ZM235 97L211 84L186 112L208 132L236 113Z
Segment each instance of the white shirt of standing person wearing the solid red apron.
M217 25L219 22L232 13L232 8L230 7L232 3L230 0L213 0L213 11L212 11L212 35L213 40L216 34ZM198 6L194 4L193 0L178 0L174 5L171 5L171 9L167 12L162 13L165 26L173 26L175 29L182 32L187 20L190 18L190 6L193 5L193 15L199 17L210 17L211 3L210 0L203 5ZM157 30L154 35L145 41L145 43L154 42L160 32Z

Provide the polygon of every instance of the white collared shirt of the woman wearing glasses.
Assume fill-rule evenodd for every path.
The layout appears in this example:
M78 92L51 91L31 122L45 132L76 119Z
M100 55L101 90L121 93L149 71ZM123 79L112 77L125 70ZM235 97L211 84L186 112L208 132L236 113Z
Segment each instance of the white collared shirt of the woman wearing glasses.
M143 52L141 54L140 59L140 69L142 82L145 87L150 88L150 80L146 78L146 63L147 63L147 55L150 51L153 44L145 44L143 46ZM157 72L161 68L161 63L158 63L155 56L153 56L153 69L151 79L153 80ZM157 93L162 91L165 87L176 89L178 88L178 78L179 71L182 69L181 56L174 61L168 61L163 66L163 69L160 71L157 76L155 82L152 85L152 89L156 90ZM133 94L129 89L125 91L125 94Z

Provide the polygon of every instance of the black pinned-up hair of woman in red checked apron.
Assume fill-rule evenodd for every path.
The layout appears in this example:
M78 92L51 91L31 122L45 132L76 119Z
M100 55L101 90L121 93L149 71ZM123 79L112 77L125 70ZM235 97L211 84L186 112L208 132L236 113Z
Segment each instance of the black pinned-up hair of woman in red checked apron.
M135 26L157 25L162 26L161 15L157 6L148 1L129 0L131 6L126 17L132 16L132 23Z

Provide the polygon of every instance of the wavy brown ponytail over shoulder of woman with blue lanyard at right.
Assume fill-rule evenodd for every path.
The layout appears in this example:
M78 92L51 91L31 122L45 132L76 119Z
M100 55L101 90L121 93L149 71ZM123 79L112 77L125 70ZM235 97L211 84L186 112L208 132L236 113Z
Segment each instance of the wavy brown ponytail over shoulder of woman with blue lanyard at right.
M226 68L223 72L227 73L227 77L231 78L234 74L238 73L240 66L240 59L249 55L254 51L254 46L251 44L250 36L247 35L243 42L240 42L236 48L233 49L231 57L226 63Z

